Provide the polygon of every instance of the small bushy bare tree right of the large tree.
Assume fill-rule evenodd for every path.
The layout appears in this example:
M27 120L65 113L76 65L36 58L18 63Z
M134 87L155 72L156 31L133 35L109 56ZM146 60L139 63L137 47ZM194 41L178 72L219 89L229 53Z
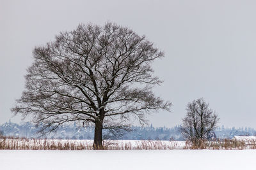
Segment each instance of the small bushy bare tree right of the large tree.
M188 103L187 115L182 119L182 135L188 141L197 144L202 139L207 139L207 134L216 128L218 116L209 108L203 98Z

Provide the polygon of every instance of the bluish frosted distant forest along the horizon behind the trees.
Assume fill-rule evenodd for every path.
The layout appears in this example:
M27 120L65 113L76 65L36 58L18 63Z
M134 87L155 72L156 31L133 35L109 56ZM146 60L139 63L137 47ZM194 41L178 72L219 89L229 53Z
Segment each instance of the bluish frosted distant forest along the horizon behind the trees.
M0 125L0 131L4 136L24 137L24 138L48 138L48 139L93 139L93 127L79 127L76 124L62 125L58 131L40 136L36 132L40 127L27 122L23 124L15 124L8 122ZM226 128L224 126L218 127L212 132L212 138L224 139L234 138L234 136L253 136L256 135L255 129L235 127ZM109 130L104 130L103 136L105 139L127 139L127 140L178 140L182 141L184 138L180 133L180 125L172 128L166 127L131 127L131 131L121 131L114 135Z

